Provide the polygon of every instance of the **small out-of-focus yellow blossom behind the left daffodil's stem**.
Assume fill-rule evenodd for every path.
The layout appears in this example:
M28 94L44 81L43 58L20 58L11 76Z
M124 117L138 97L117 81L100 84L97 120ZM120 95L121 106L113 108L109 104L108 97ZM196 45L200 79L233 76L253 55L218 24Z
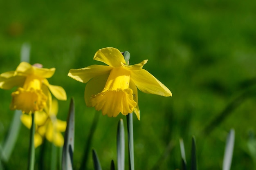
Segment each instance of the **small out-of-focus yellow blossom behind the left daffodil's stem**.
M36 131L34 135L34 145L38 147L42 144L43 139L46 138L48 141L54 143L55 146L63 146L64 138L61 132L66 130L66 121L61 121L56 118L58 113L58 102L52 100L52 105L49 113L45 111L35 112L35 126ZM20 117L22 123L27 127L31 128L32 118L30 115L22 114Z

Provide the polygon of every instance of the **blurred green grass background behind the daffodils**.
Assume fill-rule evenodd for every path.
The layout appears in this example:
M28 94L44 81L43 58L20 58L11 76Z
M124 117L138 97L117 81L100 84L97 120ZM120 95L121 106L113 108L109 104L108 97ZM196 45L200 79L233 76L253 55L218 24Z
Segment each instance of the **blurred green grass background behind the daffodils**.
M85 84L67 73L70 68L102 64L93 60L98 49L129 51L130 64L148 59L144 68L173 93L161 97L139 92L140 121L133 115L135 169L179 169L180 138L190 164L192 135L199 169L221 169L231 128L236 130L231 169L255 169L255 152L248 148L256 131L255 9L253 0L2 0L0 73L16 69L24 42L31 45L31 64L56 68L49 82L63 86L68 97L59 102L59 119L66 119L70 98L75 99L74 167L78 169L95 111L85 106ZM13 116L9 110L13 90L0 89L1 140ZM250 95L243 95L248 90ZM225 112L228 116L204 134L204 128L233 102L234 109ZM92 148L103 169L109 169L111 159L116 162L121 118L126 124L121 114L99 116ZM27 168L28 145L29 130L22 125L7 168ZM46 147L50 150L50 144ZM49 160L45 162L48 169ZM91 156L88 169L93 169Z

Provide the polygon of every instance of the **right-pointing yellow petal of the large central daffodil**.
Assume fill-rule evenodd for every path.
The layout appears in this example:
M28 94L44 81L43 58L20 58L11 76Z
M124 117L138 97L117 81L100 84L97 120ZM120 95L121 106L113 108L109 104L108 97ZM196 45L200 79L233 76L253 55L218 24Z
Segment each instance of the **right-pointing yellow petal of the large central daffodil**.
M144 93L156 94L161 96L172 96L171 91L164 86L158 79L141 69L139 71L131 71L130 79L136 84L137 88Z

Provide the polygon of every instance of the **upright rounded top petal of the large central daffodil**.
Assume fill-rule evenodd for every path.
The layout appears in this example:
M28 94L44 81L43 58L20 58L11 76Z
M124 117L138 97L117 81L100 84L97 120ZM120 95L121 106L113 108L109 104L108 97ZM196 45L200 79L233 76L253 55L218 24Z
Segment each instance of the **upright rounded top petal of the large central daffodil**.
M112 67L119 67L121 66L121 63L126 64L122 53L118 49L112 47L99 49L95 53L93 59Z

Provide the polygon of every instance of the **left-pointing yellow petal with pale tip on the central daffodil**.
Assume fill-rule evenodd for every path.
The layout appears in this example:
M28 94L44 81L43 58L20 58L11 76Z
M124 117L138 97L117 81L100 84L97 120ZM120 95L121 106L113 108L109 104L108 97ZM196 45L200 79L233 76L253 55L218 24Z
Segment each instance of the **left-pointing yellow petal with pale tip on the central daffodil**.
M87 83L93 77L110 73L111 69L110 66L91 65L80 69L70 69L68 76L76 81Z

